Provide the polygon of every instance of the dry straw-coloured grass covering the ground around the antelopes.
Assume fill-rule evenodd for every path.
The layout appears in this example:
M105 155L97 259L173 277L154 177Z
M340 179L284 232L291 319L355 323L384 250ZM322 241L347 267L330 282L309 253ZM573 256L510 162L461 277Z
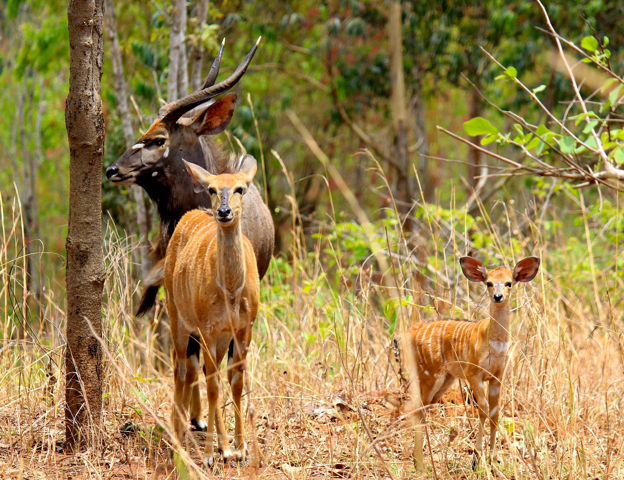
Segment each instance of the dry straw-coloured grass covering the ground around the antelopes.
M342 193L348 196L348 192ZM11 330L11 325L21 319L15 299L20 299L22 310L27 300L21 300L19 206L5 205L0 245L0 321L4 327L0 344L0 478L416 478L409 408L402 401L406 385L401 375L409 377L409 373L392 348L384 300L397 297L395 286L399 285L401 298L411 295L412 304L427 306L406 305L397 311L397 337L417 315L434 315L432 309L441 315L476 317L487 301L481 305L482 289L471 287L469 292L455 259L474 249L479 256L489 252L486 263L502 259L511 263L510 238L515 239L516 252L528 254L530 246L538 244L533 253L542 257L543 263L535 281L517 290L513 299L517 305L512 318L514 342L501 396L498 461L471 468L477 412L464 405L465 398L456 385L444 403L433 406L427 415L429 476L622 478L624 350L618 332L622 313L603 294L606 284L611 301L617 302L621 276L617 268L615 277L608 271L612 259L593 256L592 247L597 249L600 238L590 242L583 259L563 249L553 253L552 247L540 247L553 241L540 222L553 219L554 214L541 215L538 206L534 206L535 215L514 207L512 203L497 205L495 211L503 214L496 221L483 212L485 219L479 228L492 241L487 249L466 241L466 225L452 224L460 217L449 220L439 208L421 209L417 224L426 247L417 252L426 249L427 254L415 258L407 254L396 222L384 223L388 231L380 223L364 223L336 238L335 215L329 216L328 223L313 223L316 243L308 252L296 205L288 206L295 212L289 260L278 257L263 281L262 306L248 356L245 400L253 406L247 412L248 441L253 459L261 459L262 466L205 473L196 461L202 434L188 434L188 453L172 459L168 447L170 360L153 347L155 322L164 321L162 309L157 309L151 324L132 317L135 244L113 228L105 233L104 246L106 348L101 444L83 453L64 453L62 290L46 290L44 319L31 320L25 340L12 340L17 331ZM548 208L547 202L543 208ZM391 209L382 213L394 216ZM363 211L354 214L360 223L366 221ZM582 214L588 228L600 221L585 209ZM505 218L509 223L501 220ZM587 240L587 232L584 224L578 231L581 243ZM310 232L305 235L309 238ZM370 257L346 250L349 239L368 245ZM568 277L570 262L588 259L593 282ZM410 272L414 262L423 261L424 279L419 284ZM570 268L562 271L562 266ZM554 271L555 267L559 270ZM361 276L356 281L358 272ZM421 294L421 289L426 293ZM154 367L158 358L162 368ZM228 395L226 388L225 410L231 431L233 412Z

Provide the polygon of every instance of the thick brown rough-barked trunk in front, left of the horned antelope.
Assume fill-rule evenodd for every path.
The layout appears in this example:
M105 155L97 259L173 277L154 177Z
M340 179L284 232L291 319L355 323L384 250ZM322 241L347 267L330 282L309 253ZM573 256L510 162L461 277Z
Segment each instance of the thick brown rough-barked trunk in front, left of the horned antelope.
M99 448L102 417L102 157L104 0L70 0L65 431L69 448Z

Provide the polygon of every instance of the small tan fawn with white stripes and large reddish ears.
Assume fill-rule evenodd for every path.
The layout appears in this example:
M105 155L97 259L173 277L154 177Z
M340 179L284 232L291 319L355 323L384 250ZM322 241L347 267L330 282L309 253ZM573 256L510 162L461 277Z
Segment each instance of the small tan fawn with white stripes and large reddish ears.
M479 406L476 450L482 449L484 423L489 418L490 456L494 456L500 413L500 381L511 342L509 297L514 284L529 282L535 277L540 259L522 259L513 272L505 267L487 271L481 262L472 257L462 257L460 264L470 281L486 284L490 297L489 315L479 322L419 322L409 330L409 340L424 408L439 401L458 378L467 380ZM489 382L487 400L484 382ZM417 423L424 420L424 410L416 411L416 420ZM419 425L414 458L416 467L424 470L422 428Z

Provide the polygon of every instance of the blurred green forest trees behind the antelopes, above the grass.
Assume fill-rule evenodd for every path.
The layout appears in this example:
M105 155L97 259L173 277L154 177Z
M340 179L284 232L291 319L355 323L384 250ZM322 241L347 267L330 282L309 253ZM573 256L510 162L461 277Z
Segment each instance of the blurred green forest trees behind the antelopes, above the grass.
M543 190L550 188L532 176L479 181L475 177L499 166L497 161L436 130L440 125L469 138L462 123L473 117L497 122L500 132L512 130L513 122L485 102L470 82L500 108L512 109L535 125L545 122L544 113L522 91L510 82L495 81L500 69L480 47L505 67L513 65L527 84L545 85L544 104L558 114L565 112L568 104L562 102L573 91L551 61L553 37L536 29L546 25L535 2L107 2L111 8L113 4L119 50L105 43L104 166L128 145L124 115L138 137L158 107L172 100L168 97L197 87L223 37L222 75L263 37L236 87L240 100L231 135L220 140L224 148L236 150L237 138L264 165L258 183L275 212L278 252L290 244L293 204L298 205L303 233L330 221L330 195L336 211L350 211L333 178L323 178L326 168L301 142L287 112L305 125L373 220L384 218L391 196L403 214L416 220L423 202L458 211L467 206L477 216L482 211L473 191L488 210L500 199L544 201ZM592 28L608 35L614 69L622 65L624 36L618 25L623 9L621 2L606 0L547 6L558 32L577 44ZM41 262L36 253L45 249L64 254L69 168L63 122L69 78L65 11L66 3L58 0L0 0L0 190L5 204L19 193L31 254L26 261L29 284L24 286L32 295L31 311L42 290L60 281L62 266L60 256ZM113 18L110 13L107 22ZM124 87L119 87L115 60L120 60ZM401 70L403 87L397 90L392 75ZM120 98L124 90L127 97ZM479 143L479 138L469 140ZM374 161L354 155L362 148L379 161L389 190ZM484 148L515 160L524 155L499 143ZM290 172L292 188L271 151ZM112 185L104 176L102 181L104 220L137 240L142 224L142 236L151 230L152 238L157 222L149 217L139 222L137 215L145 209L153 217L154 209L129 188ZM548 199L562 208L570 202L566 194ZM598 201L595 186L585 191L585 201ZM417 222L409 223L417 233ZM310 235L306 239L313 244Z

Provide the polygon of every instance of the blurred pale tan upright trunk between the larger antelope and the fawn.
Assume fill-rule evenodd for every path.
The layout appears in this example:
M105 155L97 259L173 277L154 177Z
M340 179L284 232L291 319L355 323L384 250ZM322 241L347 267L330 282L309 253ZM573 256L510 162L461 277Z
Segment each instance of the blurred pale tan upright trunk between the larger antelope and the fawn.
M401 201L399 211L406 215L404 231L411 231L412 222L407 217L412 203L409 182L409 150L407 148L407 108L405 105L405 80L403 72L403 47L401 38L401 2L392 1L388 22L390 43L390 80L392 88L392 123L394 140L391 155L399 165L396 198Z

